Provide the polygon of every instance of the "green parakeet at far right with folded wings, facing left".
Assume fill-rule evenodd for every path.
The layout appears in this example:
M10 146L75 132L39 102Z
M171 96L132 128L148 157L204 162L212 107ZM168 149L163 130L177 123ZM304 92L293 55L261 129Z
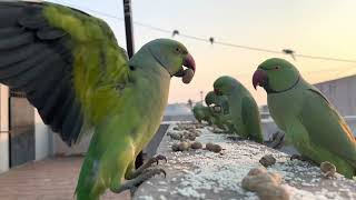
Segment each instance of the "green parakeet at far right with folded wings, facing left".
M267 92L270 116L303 157L329 161L348 178L356 172L356 140L327 98L305 81L297 68L274 58L263 62L254 87Z

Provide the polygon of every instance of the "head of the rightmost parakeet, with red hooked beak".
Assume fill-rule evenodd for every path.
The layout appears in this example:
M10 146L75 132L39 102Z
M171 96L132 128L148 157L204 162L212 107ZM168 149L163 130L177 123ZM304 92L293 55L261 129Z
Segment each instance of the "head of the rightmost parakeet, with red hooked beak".
M300 79L299 71L290 62L273 58L258 66L253 84L263 87L267 93L279 93L295 87Z

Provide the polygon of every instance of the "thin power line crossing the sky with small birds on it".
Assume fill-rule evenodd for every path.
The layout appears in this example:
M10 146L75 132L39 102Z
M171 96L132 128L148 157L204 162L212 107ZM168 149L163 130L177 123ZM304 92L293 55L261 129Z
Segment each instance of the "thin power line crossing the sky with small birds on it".
M79 7L76 4L71 4L68 3L67 1L53 1L53 2L62 2L66 3L70 7L75 7L75 8L80 8L83 10L88 10L90 12L103 16L103 17L108 17L111 19L117 19L120 21L123 21L123 18L119 18L117 16L113 14L109 14L102 11L97 11L90 8L85 8L85 7ZM260 52L268 52L268 53L277 53L277 54L290 54L293 57L299 57L299 58L306 58L306 59L315 59L315 60L327 60L327 61L337 61L337 62L349 62L349 63L356 63L356 60L350 60L350 59L342 59L342 58L333 58L333 57L322 57L322 56L310 56L310 54L301 54L301 53L286 53L285 50L278 51L278 50L273 50L273 49L265 49L265 48L257 48L257 47L250 47L250 46L241 46L241 44L236 44L236 43L229 43L229 42L224 42L224 41L216 41L212 37L210 38L201 38L201 37L196 37L196 36L191 36L191 34L185 34L185 33L179 33L179 31L177 30L168 30L168 29L162 29L159 27L155 27L155 26L150 26L147 23L142 23L142 22L138 22L138 21L134 21L134 24L139 26L139 27L144 27L147 29L151 29L155 31L159 31L159 32L165 32L165 33L170 33L172 36L179 36L182 38L187 38L187 39L191 39L191 40L197 40L197 41L202 41L202 42L207 42L207 43L216 43L219 46L225 46L225 47L230 47L230 48L238 48L238 49L246 49L246 50L250 50L250 51L260 51ZM178 33L177 33L178 32ZM212 39L212 41L211 41ZM291 51L291 50L289 50Z

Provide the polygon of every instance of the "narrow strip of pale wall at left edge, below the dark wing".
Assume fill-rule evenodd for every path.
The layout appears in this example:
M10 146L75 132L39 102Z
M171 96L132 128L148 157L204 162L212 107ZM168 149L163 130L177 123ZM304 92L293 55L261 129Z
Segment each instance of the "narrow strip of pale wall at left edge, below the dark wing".
M0 173L9 170L9 89L0 84Z

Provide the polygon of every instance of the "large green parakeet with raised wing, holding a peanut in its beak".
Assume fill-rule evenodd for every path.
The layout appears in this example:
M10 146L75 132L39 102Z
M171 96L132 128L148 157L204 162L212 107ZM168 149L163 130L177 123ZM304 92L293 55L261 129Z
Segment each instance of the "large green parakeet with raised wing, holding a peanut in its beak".
M161 172L149 164L135 170L134 162L160 124L170 78L188 83L194 72L192 57L177 41L154 40L128 60L100 19L49 2L0 2L0 82L26 92L68 144L93 132L79 200Z

